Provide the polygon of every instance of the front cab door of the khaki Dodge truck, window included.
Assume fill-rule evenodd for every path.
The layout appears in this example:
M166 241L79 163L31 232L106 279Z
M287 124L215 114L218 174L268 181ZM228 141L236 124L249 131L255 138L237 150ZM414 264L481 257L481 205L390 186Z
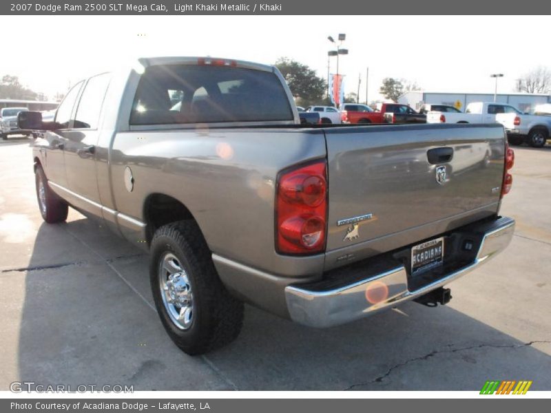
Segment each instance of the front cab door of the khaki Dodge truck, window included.
M67 188L67 176L65 174L65 145L67 133L70 131L70 123L84 81L76 83L65 95L59 105L54 118L57 127L53 131L45 131L43 137L48 142L45 152L44 165L46 178L56 193ZM60 188L61 187L61 188ZM60 195L64 196L63 193Z

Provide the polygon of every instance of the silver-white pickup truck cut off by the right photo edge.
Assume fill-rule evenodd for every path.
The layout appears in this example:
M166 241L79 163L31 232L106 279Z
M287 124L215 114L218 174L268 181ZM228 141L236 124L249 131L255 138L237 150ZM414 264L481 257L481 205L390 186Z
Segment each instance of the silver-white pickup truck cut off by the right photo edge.
M517 113L497 114L496 121L507 132L511 145L528 143L531 147L541 148L551 135L551 116Z

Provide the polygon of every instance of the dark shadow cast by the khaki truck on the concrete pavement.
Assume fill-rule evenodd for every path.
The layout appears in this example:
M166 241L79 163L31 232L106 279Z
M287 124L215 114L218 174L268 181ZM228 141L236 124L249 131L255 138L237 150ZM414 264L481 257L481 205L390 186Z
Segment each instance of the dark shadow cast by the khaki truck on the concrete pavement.
M551 357L538 349L548 343L514 339L453 301L328 330L247 306L235 342L189 357L160 324L147 265L145 253L77 213L41 224L28 267L1 278L21 283L24 296L6 297L20 317L12 379L134 390L479 390L490 379L551 388Z

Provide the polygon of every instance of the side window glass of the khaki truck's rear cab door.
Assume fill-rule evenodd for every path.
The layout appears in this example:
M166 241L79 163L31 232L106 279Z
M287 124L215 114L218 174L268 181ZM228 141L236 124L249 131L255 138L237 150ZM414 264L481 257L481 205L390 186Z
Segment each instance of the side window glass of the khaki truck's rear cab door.
M74 128L97 129L99 114L110 78L109 73L98 74L86 83L79 107L76 109Z

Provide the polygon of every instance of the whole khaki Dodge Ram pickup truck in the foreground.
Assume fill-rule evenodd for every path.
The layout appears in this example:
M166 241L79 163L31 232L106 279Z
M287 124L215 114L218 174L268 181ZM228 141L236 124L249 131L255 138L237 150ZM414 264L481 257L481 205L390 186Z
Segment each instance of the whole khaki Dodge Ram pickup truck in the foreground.
M501 125L300 125L271 66L140 59L77 83L53 122L19 123L39 135L44 220L74 207L147 248L160 319L189 354L237 337L243 302L315 327L445 304L514 231Z

